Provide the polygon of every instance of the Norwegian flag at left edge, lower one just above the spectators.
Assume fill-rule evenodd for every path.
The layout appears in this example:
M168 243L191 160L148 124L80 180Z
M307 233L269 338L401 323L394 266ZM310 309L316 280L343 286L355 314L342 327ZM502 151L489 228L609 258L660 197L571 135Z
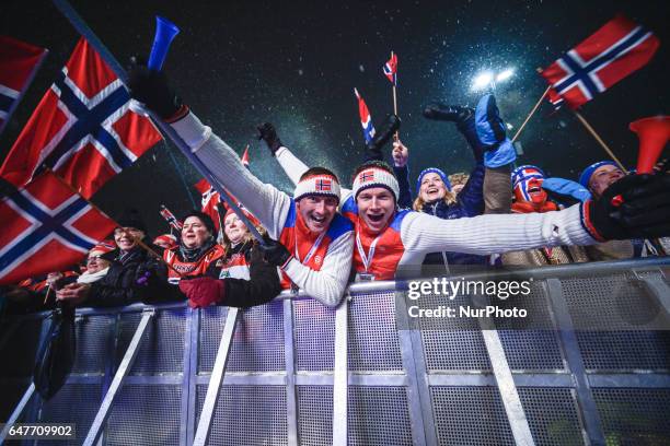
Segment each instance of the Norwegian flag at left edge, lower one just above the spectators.
M79 262L116 223L51 172L0 200L0 284Z

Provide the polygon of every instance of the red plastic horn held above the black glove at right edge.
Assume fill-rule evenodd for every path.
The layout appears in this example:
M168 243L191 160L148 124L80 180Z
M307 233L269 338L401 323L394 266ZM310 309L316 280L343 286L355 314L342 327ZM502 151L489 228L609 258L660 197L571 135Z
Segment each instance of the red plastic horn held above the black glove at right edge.
M631 130L639 138L637 173L650 174L670 138L670 116L652 116L631 122Z

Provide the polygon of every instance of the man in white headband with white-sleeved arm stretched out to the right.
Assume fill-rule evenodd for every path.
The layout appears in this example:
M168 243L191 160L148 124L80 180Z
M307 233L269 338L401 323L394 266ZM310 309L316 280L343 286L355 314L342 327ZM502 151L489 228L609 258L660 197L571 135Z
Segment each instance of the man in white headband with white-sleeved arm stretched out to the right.
M308 169L286 148L276 157L293 181ZM355 171L353 190L342 189L340 212L355 225L354 268L361 279L391 280L402 266L418 271L425 255L437 250L486 255L539 248L541 240L544 246L591 245L593 236L600 237L588 206L457 220L398 210L398 184L391 172L385 163L365 163Z

